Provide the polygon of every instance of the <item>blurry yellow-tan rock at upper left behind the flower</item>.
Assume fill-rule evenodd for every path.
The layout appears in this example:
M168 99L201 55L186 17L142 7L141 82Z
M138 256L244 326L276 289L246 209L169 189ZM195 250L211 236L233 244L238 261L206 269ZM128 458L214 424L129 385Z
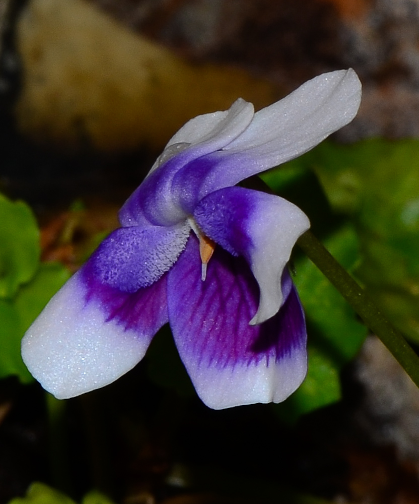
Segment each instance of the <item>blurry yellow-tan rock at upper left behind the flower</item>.
M160 148L190 117L239 96L260 108L277 86L194 66L83 0L32 0L18 25L19 128L41 142L99 150Z

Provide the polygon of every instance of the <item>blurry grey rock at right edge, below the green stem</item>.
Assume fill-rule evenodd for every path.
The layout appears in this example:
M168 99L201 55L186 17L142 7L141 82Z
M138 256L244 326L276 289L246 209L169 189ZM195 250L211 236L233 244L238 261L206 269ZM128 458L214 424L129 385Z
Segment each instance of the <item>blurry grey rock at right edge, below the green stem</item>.
M419 473L419 390L381 341L367 338L355 377L364 395L356 420L380 446L393 446Z

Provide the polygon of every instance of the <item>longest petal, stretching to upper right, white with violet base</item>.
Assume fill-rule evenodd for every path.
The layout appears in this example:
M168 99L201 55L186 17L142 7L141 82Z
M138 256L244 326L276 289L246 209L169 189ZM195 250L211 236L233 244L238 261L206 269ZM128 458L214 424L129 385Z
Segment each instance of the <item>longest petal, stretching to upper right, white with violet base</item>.
M191 211L205 195L309 151L355 117L361 83L354 70L339 70L306 82L255 113L248 128L221 151L184 166L173 180L180 192L193 180L181 205Z

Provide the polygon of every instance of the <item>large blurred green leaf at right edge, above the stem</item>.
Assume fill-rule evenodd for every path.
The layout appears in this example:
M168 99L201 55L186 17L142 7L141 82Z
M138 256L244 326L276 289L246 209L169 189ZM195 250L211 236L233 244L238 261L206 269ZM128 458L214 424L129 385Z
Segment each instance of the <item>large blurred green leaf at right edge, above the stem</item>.
M419 141L323 143L304 157L332 207L350 215L363 261L356 273L393 324L419 343Z

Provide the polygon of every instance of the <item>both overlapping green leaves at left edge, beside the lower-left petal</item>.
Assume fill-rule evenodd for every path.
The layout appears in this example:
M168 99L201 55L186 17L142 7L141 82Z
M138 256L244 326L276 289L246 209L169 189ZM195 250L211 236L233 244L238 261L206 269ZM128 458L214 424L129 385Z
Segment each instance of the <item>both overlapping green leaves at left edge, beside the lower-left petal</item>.
M33 380L20 355L25 331L69 277L60 264L41 263L31 209L0 195L0 378Z

